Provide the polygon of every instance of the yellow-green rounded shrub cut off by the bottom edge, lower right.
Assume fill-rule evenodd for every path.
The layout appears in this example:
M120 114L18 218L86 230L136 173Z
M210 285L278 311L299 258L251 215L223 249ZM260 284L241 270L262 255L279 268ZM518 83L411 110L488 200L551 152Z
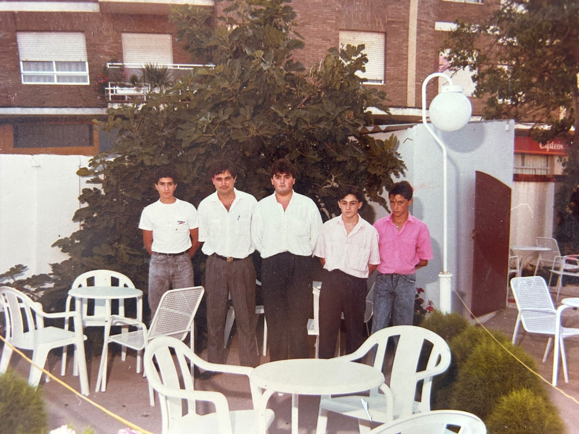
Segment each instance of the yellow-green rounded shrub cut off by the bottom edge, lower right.
M529 389L500 398L486 420L489 434L560 434L565 432L556 410Z

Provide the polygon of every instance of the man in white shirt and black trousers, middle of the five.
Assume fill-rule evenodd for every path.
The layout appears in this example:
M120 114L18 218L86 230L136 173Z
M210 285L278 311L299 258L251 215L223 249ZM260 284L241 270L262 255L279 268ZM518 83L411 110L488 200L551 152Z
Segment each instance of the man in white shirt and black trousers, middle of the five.
M251 239L261 253L263 308L270 361L308 358L312 315L312 252L322 226L312 199L294 192L297 170L288 159L270 168L276 190L258 202Z

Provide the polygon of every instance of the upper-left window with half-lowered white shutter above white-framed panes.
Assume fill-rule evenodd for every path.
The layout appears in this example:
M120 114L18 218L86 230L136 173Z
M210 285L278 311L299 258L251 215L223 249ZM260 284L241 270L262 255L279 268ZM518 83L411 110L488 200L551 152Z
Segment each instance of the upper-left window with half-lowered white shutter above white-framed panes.
M17 32L24 84L89 84L85 34Z

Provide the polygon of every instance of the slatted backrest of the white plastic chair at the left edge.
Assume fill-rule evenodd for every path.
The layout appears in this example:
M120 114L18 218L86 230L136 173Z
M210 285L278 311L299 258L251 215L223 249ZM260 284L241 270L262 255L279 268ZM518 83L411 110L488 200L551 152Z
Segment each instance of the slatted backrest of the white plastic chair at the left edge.
M6 319L5 339L15 347L23 346L25 332L43 328L43 317L36 314L37 311L42 312L42 306L23 292L10 286L1 286L0 304L4 307Z

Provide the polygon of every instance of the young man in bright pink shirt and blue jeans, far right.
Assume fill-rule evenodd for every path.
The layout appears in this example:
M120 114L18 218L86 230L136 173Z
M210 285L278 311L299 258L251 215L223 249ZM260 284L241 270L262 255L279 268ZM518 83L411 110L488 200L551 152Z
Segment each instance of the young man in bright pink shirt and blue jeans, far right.
M433 258L428 227L408 211L412 186L408 181L390 189L391 214L374 223L380 237L380 265L374 285L372 333L390 324L412 325L416 293L415 271Z

